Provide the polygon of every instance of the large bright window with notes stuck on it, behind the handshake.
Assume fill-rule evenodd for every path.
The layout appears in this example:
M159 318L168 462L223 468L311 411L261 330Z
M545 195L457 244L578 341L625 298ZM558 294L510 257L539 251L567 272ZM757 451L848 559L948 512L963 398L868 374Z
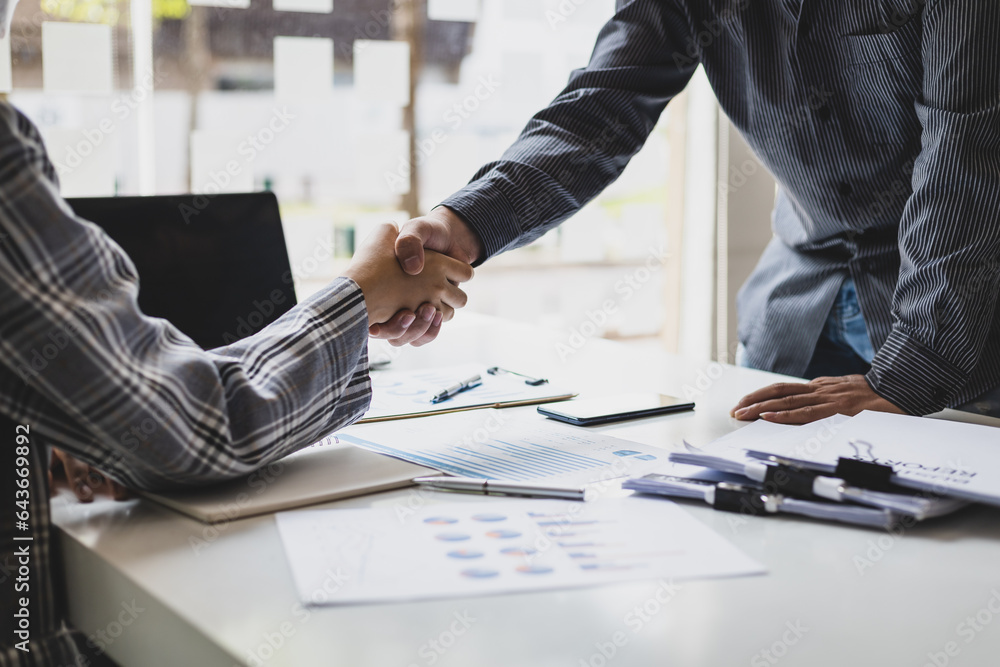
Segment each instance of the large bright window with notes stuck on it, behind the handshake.
M428 210L496 159L586 64L613 11L613 0L25 0L10 99L41 127L66 196L275 191L302 298L373 224ZM667 293L677 137L664 116L597 200L483 267L470 308L568 335L660 336L676 319L664 304L680 302Z

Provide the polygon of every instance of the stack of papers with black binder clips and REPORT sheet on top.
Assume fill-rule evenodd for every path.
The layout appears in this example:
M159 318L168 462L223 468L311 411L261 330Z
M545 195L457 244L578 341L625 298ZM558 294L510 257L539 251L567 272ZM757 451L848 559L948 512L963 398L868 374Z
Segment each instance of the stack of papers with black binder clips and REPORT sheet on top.
M755 422L703 449L675 452L669 466L624 486L730 511L890 527L968 501L1000 504L998 435L989 426L879 412L807 426ZM848 474L857 464L862 477Z

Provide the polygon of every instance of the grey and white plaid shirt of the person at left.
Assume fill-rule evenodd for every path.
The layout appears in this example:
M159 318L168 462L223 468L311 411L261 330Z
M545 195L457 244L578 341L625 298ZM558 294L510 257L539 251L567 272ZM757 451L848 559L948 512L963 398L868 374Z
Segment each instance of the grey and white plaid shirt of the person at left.
M137 294L128 256L74 217L37 130L0 103L0 665L83 664L50 566L47 445L126 486L169 489L245 475L368 408L368 314L351 280L214 350L143 315ZM29 429L24 528L11 500L17 425ZM34 538L23 594L11 573L27 542L12 534ZM13 646L21 595L30 653Z

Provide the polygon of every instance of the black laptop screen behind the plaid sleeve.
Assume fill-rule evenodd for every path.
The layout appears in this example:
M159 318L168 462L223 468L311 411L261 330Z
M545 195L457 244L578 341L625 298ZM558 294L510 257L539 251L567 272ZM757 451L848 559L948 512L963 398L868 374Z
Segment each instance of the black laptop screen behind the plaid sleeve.
M295 305L273 193L67 199L139 272L139 307L203 348L245 338Z

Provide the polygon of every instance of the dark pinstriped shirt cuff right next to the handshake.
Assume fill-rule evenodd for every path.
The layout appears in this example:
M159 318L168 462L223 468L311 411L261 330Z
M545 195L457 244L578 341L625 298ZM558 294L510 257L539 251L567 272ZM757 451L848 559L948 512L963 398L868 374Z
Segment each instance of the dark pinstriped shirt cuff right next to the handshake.
M510 248L521 236L519 221L525 219L493 178L480 178L445 199L483 243L483 256L473 266Z

